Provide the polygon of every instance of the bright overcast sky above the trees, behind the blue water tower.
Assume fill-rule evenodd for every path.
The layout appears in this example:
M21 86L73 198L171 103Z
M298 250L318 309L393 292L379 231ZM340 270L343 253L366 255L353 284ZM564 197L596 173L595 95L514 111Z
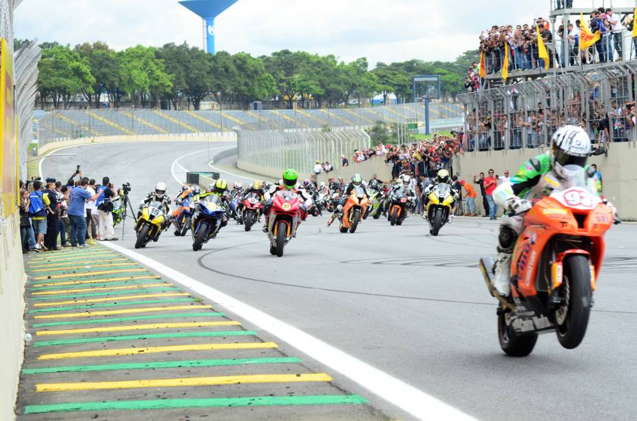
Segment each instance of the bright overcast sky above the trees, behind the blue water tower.
M239 0L216 19L216 49L253 56L304 50L370 65L450 61L477 48L490 25L547 17L549 1ZM24 0L15 36L76 45L182 43L202 47L201 20L177 0Z

